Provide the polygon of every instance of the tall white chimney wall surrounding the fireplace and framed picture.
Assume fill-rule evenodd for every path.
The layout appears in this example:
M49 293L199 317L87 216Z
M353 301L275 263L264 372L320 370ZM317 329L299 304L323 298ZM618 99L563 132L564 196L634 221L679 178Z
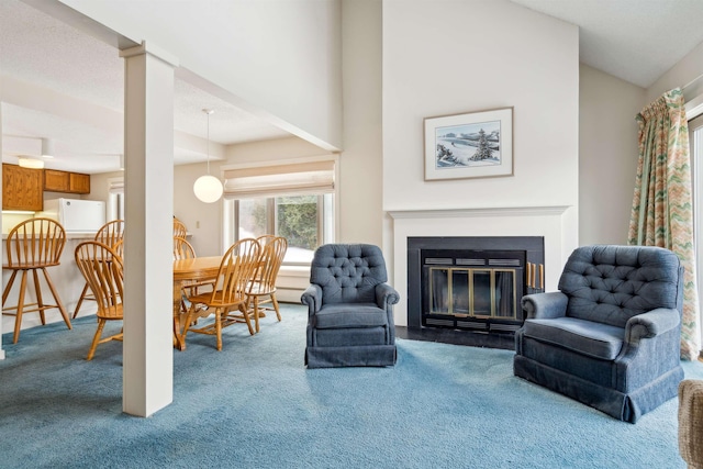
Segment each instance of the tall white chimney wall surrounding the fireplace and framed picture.
M503 0L386 1L382 15L383 209L394 219L386 221L383 242L401 297L406 254L393 230L413 236L544 235L553 288L556 270L578 245L577 26ZM424 180L425 118L509 107L514 176ZM536 223L539 210L501 210L535 206L556 214L549 233ZM460 210L440 217L423 212L440 209ZM464 214L476 209L495 213L481 211L467 223ZM400 212L415 212L420 222ZM398 324L404 314L399 304Z

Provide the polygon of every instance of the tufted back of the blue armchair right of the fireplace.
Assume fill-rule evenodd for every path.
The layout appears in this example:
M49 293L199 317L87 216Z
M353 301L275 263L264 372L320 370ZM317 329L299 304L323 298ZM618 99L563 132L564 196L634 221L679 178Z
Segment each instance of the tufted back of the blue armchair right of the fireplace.
M669 249L654 246L584 246L563 268L559 290L569 297L567 316L625 327L657 308L681 313L682 267Z

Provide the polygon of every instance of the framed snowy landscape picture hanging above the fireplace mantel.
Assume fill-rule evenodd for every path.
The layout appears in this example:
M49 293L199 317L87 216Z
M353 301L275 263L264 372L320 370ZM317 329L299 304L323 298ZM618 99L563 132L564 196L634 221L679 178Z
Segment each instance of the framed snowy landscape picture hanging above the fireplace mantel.
M513 175L513 108L425 119L425 180Z

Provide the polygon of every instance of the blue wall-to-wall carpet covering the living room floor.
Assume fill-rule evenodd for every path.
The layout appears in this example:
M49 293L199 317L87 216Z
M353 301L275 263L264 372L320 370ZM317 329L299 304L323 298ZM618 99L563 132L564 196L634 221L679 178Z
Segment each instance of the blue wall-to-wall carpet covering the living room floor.
M94 317L3 336L0 468L684 468L676 399L635 425L513 377L510 350L398 339L393 368L306 370L283 305L174 351L174 403L122 410L121 343ZM703 379L703 364L684 362Z

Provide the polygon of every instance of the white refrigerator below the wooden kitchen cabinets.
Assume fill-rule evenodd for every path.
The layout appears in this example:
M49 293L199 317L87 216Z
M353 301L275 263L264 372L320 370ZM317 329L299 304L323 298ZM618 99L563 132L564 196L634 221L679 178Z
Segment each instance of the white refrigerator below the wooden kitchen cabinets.
M58 221L66 233L94 233L105 224L105 202L64 198L45 200L43 215Z

